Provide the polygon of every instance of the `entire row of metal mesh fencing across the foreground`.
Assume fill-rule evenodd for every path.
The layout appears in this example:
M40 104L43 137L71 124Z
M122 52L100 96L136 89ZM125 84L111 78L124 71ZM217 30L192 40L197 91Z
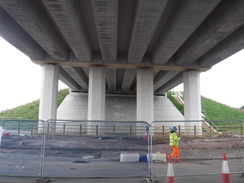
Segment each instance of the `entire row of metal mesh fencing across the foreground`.
M176 180L221 175L222 152L230 173L243 175L243 120L66 121L0 120L0 182L166 178L170 127L181 137ZM4 179L5 180L5 179ZM238 179L239 180L239 179ZM4 181L8 182L8 181Z

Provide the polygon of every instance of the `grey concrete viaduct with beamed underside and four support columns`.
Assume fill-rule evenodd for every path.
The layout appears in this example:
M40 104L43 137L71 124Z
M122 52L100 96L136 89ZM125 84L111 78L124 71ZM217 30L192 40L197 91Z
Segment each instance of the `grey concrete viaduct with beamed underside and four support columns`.
M113 94L147 122L184 83L184 118L199 120L199 73L244 48L244 1L1 0L0 35L43 67L39 119L56 119L61 80L87 94L87 120L106 120Z

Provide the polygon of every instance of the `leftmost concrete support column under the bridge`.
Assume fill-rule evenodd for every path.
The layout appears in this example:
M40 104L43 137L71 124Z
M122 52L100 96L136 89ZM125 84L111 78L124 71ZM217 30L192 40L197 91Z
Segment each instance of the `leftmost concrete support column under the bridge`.
M42 67L42 88L39 119L56 119L59 67L51 64Z

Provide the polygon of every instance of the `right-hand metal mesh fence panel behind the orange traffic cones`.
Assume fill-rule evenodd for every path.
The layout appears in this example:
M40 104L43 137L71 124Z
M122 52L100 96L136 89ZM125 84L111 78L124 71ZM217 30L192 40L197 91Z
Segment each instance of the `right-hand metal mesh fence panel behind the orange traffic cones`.
M215 124L215 125L214 125ZM176 177L221 175L223 152L230 157L231 174L244 172L243 121L155 121L151 124L151 172L153 179L167 175L167 156L173 152L169 145L170 128L176 126L179 141L180 163L173 160ZM238 175L233 175L238 177ZM177 179L177 178L176 178ZM200 179L200 178L199 178ZM239 178L240 179L240 178ZM239 180L238 179L238 180Z

